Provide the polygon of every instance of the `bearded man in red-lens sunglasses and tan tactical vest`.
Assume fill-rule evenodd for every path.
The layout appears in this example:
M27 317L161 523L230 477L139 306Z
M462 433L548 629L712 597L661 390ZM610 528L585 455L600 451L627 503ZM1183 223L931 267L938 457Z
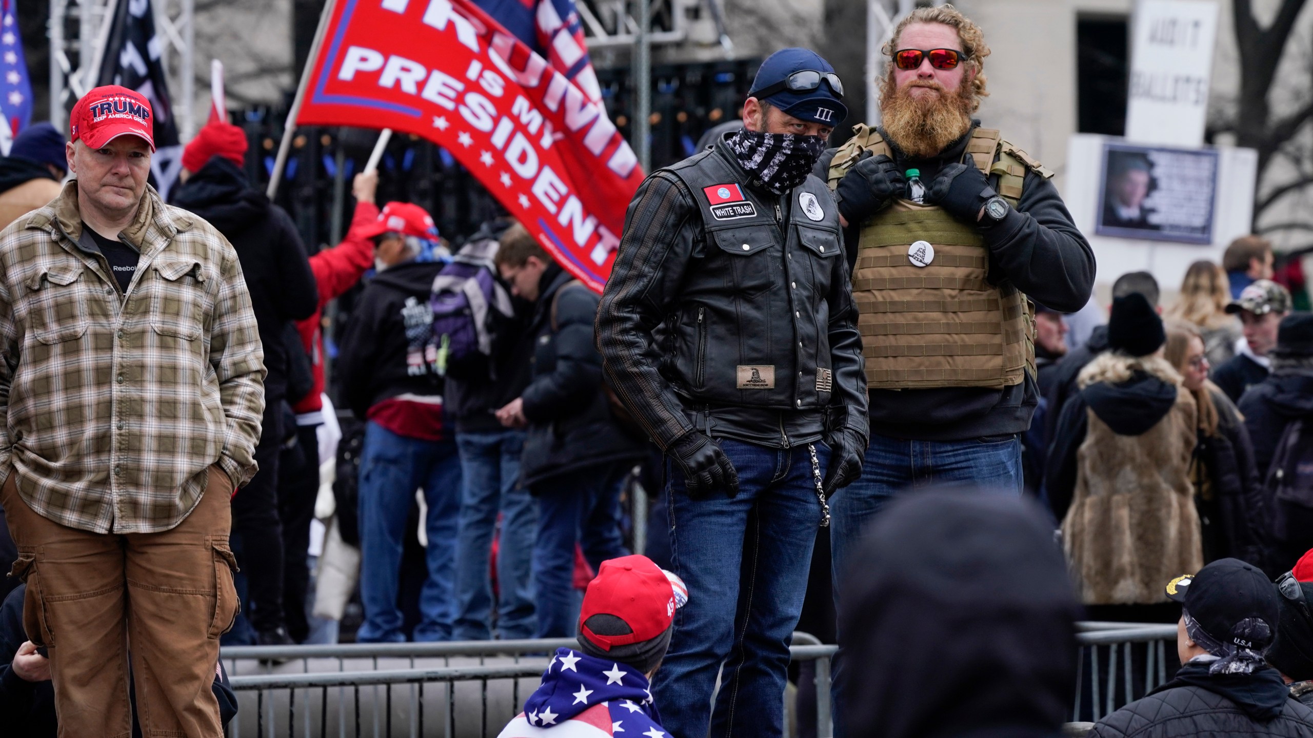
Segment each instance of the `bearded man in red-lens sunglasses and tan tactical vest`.
M1075 311L1094 284L1053 175L972 118L989 53L952 5L914 11L885 45L882 125L857 126L815 169L843 217L871 393L861 478L834 500L839 575L894 495L1020 494L1019 435L1039 404L1033 302ZM913 169L923 202L910 198Z

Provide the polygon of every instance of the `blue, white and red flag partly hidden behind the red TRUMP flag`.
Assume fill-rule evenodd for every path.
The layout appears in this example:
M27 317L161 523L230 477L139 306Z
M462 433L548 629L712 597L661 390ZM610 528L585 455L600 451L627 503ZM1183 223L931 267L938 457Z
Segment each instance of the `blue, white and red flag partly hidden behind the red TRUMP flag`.
M474 0L474 4L574 81L591 102L601 101L574 0Z

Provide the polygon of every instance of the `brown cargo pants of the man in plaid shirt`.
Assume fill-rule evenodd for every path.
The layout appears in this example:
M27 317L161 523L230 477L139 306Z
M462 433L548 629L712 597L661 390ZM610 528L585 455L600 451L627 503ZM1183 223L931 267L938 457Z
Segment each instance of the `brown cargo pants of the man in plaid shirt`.
M37 515L14 474L0 504L18 545L13 575L28 583L24 629L50 654L59 735L131 735L130 650L143 735L222 737L211 685L219 634L238 613L227 477L211 466L176 528L112 534Z

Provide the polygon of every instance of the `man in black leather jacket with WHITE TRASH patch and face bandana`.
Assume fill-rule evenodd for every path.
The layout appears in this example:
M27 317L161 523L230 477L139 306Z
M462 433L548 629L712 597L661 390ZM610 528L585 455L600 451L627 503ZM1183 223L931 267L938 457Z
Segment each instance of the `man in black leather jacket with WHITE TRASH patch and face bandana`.
M638 189L597 310L616 393L666 452L672 569L689 604L653 696L675 738L705 737L709 720L714 735L783 733L817 525L861 470L848 265L834 200L809 176L847 114L842 95L817 54L768 58L744 130Z

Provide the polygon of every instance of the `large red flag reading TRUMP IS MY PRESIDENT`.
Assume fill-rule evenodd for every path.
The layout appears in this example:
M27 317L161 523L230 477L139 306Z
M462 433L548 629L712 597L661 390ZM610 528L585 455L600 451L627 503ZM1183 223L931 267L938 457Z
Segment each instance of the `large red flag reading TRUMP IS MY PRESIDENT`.
M337 0L297 125L442 146L601 292L643 173L601 105L578 12L571 0L481 3L496 17L473 0Z

